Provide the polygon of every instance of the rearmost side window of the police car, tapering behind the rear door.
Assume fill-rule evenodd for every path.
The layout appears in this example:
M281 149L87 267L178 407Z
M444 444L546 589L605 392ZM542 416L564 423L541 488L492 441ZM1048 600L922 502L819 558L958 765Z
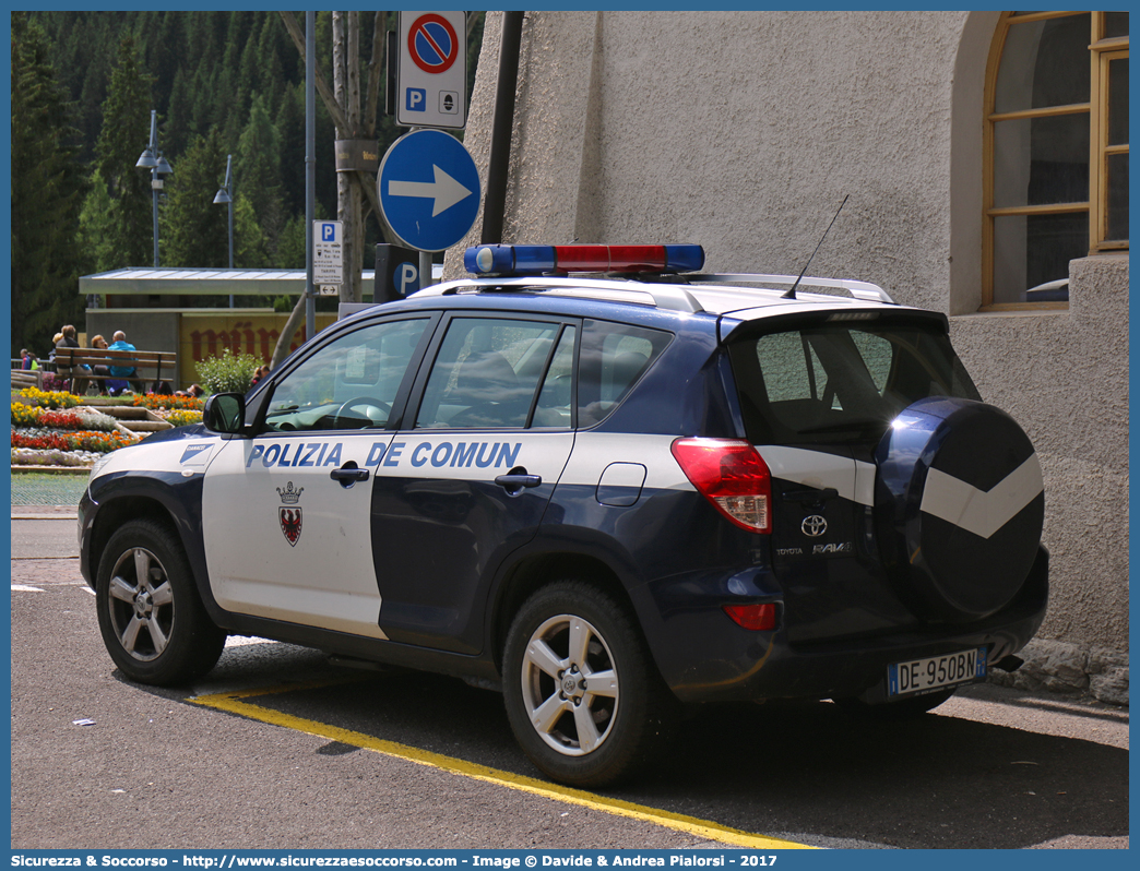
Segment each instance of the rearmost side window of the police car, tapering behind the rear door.
M671 333L608 320L583 324L578 426L601 423L673 341Z

